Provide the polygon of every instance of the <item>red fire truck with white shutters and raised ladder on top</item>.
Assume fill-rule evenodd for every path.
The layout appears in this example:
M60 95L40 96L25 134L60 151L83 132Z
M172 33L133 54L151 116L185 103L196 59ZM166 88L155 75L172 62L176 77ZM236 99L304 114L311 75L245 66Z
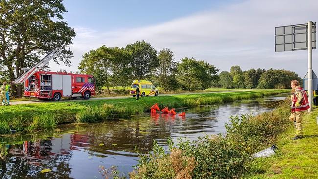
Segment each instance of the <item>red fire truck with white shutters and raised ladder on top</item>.
M24 83L24 96L59 101L61 97L89 99L95 95L92 75L45 71L43 67L61 50L54 50L27 69L13 84Z

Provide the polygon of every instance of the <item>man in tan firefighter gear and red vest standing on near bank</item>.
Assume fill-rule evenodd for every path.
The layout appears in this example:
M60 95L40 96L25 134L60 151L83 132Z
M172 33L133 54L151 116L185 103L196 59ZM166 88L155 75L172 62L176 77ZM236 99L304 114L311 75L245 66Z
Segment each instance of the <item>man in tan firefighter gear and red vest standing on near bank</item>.
M302 131L302 116L306 110L308 110L309 102L307 93L304 89L302 89L297 80L291 81L292 87L292 98L291 98L291 115L289 120L292 122L296 122L296 134L293 140L297 140L303 138Z

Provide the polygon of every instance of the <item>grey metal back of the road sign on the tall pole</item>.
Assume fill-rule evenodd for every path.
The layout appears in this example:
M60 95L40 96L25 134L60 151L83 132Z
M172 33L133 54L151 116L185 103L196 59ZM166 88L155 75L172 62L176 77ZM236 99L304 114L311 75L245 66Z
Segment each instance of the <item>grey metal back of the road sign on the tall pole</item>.
M312 49L316 49L316 22L312 22ZM307 23L275 27L275 52L308 49Z

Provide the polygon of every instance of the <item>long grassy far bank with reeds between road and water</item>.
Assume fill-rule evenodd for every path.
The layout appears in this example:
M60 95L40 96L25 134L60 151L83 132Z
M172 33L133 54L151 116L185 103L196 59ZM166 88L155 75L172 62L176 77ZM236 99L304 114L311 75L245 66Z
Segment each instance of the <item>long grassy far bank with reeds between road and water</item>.
M72 122L97 122L115 118L130 118L150 111L155 103L159 107L180 108L263 97L288 90L257 90L220 92L158 97L107 99L75 102L48 102L0 107L0 133L9 129L32 131Z

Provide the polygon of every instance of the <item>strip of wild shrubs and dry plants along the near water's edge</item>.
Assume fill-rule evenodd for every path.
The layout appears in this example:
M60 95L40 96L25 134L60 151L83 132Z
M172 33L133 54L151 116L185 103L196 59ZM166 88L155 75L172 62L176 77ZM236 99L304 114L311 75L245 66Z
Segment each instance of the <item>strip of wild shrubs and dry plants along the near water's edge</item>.
M292 126L289 100L258 116L233 116L227 134L181 140L170 152L155 143L149 155L140 155L131 179L236 179L254 170L251 155L272 146ZM290 139L289 139L290 140ZM177 147L172 147L177 146ZM257 177L256 177L257 178Z

